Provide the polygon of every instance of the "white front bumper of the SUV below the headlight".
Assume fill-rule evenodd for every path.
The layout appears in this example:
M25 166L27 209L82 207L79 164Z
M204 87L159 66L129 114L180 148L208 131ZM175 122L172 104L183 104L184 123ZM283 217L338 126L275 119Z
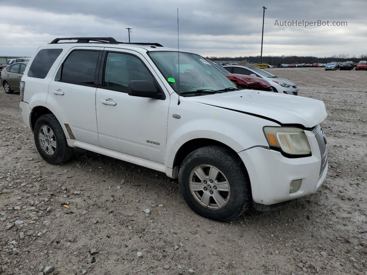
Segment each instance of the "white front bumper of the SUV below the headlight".
M286 158L280 152L264 147L253 147L239 153L247 168L255 203L272 205L314 193L323 183L327 163L321 167L321 153L316 136L305 131L312 156ZM297 192L290 193L292 180L302 179Z

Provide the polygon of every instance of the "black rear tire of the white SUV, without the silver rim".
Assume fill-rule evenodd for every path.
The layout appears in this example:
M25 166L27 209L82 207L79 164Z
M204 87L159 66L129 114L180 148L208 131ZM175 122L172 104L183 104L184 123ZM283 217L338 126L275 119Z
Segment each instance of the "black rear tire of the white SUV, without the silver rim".
M48 126L54 132L55 141L56 141L56 149L54 154L49 155L46 151L43 150L40 140L39 133L40 129L43 126ZM50 164L61 164L68 162L74 153L74 148L69 147L66 142L66 137L62 127L53 114L45 114L41 115L34 125L34 143L36 144L36 148L41 157Z

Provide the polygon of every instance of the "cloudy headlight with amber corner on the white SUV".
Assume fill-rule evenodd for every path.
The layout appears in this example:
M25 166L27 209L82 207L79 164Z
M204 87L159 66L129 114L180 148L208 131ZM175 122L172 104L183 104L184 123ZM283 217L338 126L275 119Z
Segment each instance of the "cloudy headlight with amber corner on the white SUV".
M302 129L295 127L265 126L264 134L269 146L290 155L311 154L310 144Z

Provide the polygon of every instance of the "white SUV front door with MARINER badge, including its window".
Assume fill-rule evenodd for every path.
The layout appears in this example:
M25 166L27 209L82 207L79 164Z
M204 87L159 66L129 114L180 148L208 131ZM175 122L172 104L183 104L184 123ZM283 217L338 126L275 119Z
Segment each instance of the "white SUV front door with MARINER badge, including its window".
M163 85L145 58L134 51L106 51L96 93L98 137L101 147L164 163L170 96L162 99L127 94L131 80Z

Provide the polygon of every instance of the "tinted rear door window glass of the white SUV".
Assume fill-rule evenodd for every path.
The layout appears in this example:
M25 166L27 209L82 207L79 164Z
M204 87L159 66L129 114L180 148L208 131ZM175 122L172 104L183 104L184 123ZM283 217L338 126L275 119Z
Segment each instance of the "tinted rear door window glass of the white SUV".
M73 51L62 66L61 81L94 85L99 51Z

